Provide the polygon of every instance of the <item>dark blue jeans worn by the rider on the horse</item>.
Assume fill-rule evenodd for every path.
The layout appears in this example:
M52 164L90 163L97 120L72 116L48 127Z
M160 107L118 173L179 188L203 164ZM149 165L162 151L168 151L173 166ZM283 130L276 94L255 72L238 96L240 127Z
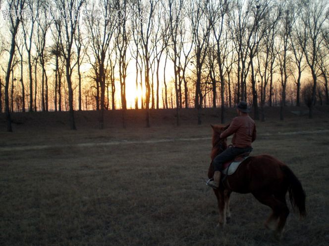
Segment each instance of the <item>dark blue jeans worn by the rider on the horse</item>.
M251 152L253 150L252 147L248 148L237 148L230 147L221 152L218 156L215 157L213 161L215 171L221 171L222 165L228 161L233 160L238 155L241 155L246 152Z

